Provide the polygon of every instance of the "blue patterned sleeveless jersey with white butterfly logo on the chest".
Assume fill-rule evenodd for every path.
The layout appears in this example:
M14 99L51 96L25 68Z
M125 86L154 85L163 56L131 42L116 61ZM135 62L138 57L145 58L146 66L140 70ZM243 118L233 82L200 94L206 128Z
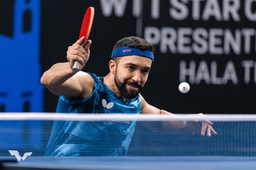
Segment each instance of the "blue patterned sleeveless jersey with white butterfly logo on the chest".
M139 95L123 101L102 82L103 78L88 74L95 81L91 95L76 101L60 96L56 113L140 113ZM118 119L104 122L54 121L44 156L125 156L135 124L136 121Z

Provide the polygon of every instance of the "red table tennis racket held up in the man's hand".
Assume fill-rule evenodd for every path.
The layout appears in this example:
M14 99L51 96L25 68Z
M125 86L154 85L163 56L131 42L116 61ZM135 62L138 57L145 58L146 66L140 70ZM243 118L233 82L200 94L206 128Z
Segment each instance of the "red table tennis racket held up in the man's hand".
M94 18L94 7L88 7L85 15L84 15L84 20L82 23L82 27L80 30L80 35L79 35L79 39L84 36L84 42L82 43L82 47L84 47L84 45L87 43L88 37L90 35L90 31L91 31L91 26L93 25L93 18ZM80 68L80 63L78 61L75 61L72 69L73 70L79 70Z

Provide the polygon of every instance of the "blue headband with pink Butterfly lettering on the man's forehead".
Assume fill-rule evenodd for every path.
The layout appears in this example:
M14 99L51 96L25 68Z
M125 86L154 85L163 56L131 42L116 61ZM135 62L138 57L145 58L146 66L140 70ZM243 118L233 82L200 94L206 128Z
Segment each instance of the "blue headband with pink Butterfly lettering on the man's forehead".
M154 61L154 55L150 50L140 50L138 48L132 48L132 47L122 47L122 48L117 48L113 50L112 56L113 57L120 57L120 56L128 56L128 55L139 55L142 57L147 57Z

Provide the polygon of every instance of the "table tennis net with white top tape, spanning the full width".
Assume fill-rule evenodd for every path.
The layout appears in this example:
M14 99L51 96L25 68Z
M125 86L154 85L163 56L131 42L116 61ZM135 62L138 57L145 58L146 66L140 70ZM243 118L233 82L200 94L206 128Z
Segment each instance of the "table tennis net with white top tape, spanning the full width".
M54 122L59 123L59 128L65 127L61 131L69 135L62 144L79 144L80 150L87 153L81 156L101 156L111 149L110 146L122 142L118 138L120 131L126 133L129 128L122 128L134 121L136 125L126 156L256 156L255 115L196 117L198 121L209 119L214 123L212 127L217 135L211 134L211 137L200 133L193 135L189 130L175 134L175 129L166 122L195 121L195 117L177 115L3 113L0 114L0 156L11 156L10 150L20 155L32 152L31 156L43 156L51 134L53 139L59 138L59 133L52 131ZM85 125L70 133L70 124ZM167 124L166 127L163 128L163 124ZM91 133L92 129L98 131L103 125L108 128Z

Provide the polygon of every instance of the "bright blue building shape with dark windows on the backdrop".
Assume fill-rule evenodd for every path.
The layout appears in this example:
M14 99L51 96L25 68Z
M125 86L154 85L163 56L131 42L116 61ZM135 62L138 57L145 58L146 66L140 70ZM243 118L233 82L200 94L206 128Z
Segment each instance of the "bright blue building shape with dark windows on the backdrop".
M13 4L12 30L11 36L0 34L2 111L43 112L44 87L40 83L41 2L16 0Z

